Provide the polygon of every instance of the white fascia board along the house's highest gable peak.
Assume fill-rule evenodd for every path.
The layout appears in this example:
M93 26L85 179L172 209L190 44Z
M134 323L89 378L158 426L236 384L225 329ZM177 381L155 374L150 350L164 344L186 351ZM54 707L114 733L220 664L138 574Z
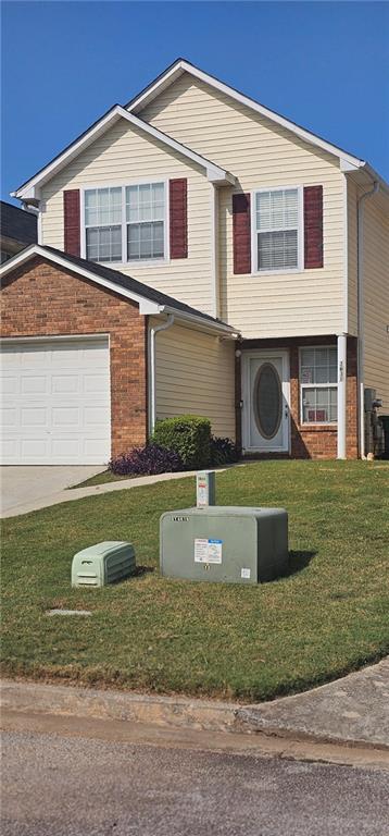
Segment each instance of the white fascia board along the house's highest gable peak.
M269 119L273 122L276 122L278 125L286 127L288 131L296 134L296 136L299 136L301 139L304 139L306 143L317 146L318 148L322 148L323 150L328 151L328 153L331 153L335 157L338 157L339 159L347 160L348 162L351 162L353 165L356 165L357 168L360 165L364 165L364 161L360 160L357 157L354 157L353 155L348 153L347 151L342 151L336 145L331 145L331 143L327 143L325 139L322 139L319 136L316 136L316 134L313 134L310 131L305 131L305 128L300 127L300 125L296 125L294 122L290 122L285 116L281 116L278 113L275 113L273 110L265 108L263 104L259 104L249 96L244 96L242 93L235 90L234 87L229 87L228 84L224 84L223 82L219 82L217 78L214 78L212 75L204 73L202 70L199 70L199 67L193 66L192 64L189 64L186 61L178 61L176 65L174 65L167 71L166 75L162 75L161 78L159 78L159 81L156 81L154 85L151 85L149 89L147 89L138 98L134 99L131 104L128 106L128 110L131 112L134 111L139 112L142 108L146 107L146 104L148 104L149 101L152 101L152 99L154 99L155 96L158 96L161 89L164 89L167 86L166 81L168 81L170 84L172 84L183 73L189 73L189 75L192 75L196 78L199 78L201 82L210 85L210 87L214 87L216 90L218 90L219 93L223 93L225 96L228 96L229 98L235 99L235 101L239 101L240 104L244 104L247 108L250 108L256 113L260 113L262 116L266 116L266 119Z

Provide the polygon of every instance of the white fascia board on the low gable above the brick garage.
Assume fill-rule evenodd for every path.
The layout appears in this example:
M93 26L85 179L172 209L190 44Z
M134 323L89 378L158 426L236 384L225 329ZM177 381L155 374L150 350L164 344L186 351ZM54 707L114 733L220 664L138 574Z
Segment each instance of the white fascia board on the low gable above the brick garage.
M61 258L61 256L58 256L54 253L48 253L45 247L40 247L38 244L33 244L27 249L23 249L22 253L20 253L14 258L10 258L8 261L5 261L0 268L0 278L10 273L16 267L20 267L26 261L29 261L35 256L41 256L41 258L45 258L47 261L52 261L52 263L58 265L65 270L71 270L73 273L77 273L77 275L81 275L84 279L89 279L90 282L99 284L101 287L105 287L113 293L117 293L120 296L124 296L125 298L135 302L137 305L139 305L140 314L160 314L161 306L156 303L153 303L137 293L133 293L126 287L121 287L121 285L116 284L115 282L110 282L109 279L103 279L100 275L96 275L96 273L92 273L90 270L84 267L79 267L72 261L67 261L66 258Z

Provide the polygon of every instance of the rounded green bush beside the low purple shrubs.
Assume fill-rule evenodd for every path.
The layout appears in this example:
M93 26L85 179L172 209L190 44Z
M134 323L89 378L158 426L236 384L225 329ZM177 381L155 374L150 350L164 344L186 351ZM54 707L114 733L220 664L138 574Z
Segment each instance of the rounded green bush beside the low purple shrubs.
M211 421L179 415L156 421L152 442L177 453L186 470L208 467L211 460Z

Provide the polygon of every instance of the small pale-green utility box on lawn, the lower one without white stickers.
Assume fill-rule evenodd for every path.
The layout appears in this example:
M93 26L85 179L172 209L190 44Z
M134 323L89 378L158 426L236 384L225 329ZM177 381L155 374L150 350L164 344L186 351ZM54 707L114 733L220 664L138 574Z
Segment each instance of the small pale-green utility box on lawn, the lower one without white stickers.
M90 545L73 557L72 587L104 587L128 578L135 571L131 543L108 541Z

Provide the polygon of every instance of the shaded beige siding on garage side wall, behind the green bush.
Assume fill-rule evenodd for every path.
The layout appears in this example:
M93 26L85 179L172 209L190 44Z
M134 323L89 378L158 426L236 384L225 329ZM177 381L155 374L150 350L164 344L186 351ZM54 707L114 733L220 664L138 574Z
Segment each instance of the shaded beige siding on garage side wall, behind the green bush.
M158 333L155 406L156 418L204 415L235 439L235 342L181 325Z

